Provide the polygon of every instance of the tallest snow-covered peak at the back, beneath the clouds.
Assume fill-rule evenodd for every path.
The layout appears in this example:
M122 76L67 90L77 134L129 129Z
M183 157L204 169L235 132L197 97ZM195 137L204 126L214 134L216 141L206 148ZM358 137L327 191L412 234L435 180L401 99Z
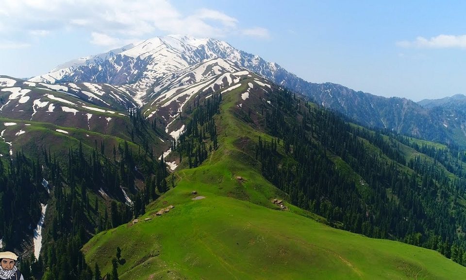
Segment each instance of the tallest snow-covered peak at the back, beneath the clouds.
M213 58L227 59L266 77L276 76L281 70L277 64L239 51L225 41L169 35L73 60L29 81L131 84L137 91L145 92L165 74Z

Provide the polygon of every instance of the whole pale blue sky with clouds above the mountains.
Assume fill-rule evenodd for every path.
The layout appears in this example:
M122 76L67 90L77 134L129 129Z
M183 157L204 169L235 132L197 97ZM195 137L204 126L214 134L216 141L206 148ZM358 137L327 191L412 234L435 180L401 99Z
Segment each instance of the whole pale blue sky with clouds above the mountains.
M466 2L1 0L0 74L158 35L216 37L310 82L415 101L466 94Z

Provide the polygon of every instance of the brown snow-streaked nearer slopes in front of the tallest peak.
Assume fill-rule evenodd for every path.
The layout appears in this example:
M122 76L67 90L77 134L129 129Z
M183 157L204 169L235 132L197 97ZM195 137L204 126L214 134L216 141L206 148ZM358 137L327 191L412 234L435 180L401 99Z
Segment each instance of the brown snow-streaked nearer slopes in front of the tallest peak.
M92 133L104 133L134 141L134 134L137 135L141 129L148 130L144 125L151 123L156 135L150 141L142 137L140 144L163 143L157 148L160 150L183 133L183 120L196 104L208 103L209 98L217 98L219 93L230 93L240 100L237 104L239 109L250 102L250 94L259 97L258 102L263 107L271 107L267 96L279 89L264 77L223 58L205 59L167 72L153 83L147 94L140 95L133 91L133 85L46 84L0 76L0 115L6 118L3 122L7 124L21 122L25 123L24 126L31 126L31 122L48 123L52 133L58 132L62 138L72 132L80 132L86 140L93 137ZM134 117L136 115L139 117ZM138 122L144 125L139 127ZM23 134L29 135L31 127L21 131L17 131L17 127L2 131L1 139L10 143L10 155L17 149L11 143L18 138L24 140ZM165 158L170 151L168 148L158 155ZM176 161L167 164L172 170L177 166Z

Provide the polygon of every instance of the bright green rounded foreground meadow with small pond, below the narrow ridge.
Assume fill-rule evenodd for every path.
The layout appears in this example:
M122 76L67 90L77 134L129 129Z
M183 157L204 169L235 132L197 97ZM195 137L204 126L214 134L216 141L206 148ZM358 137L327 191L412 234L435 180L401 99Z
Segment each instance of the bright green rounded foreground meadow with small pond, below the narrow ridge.
M198 189L202 200L191 200ZM185 181L133 225L94 237L87 261L110 272L122 249L120 279L463 279L466 268L435 251L370 239L289 211L216 195L215 186ZM271 204L271 203L270 203ZM144 221L145 217L152 217ZM93 266L91 266L93 267ZM169 272L168 272L169 271ZM160 278L159 278L160 277Z

